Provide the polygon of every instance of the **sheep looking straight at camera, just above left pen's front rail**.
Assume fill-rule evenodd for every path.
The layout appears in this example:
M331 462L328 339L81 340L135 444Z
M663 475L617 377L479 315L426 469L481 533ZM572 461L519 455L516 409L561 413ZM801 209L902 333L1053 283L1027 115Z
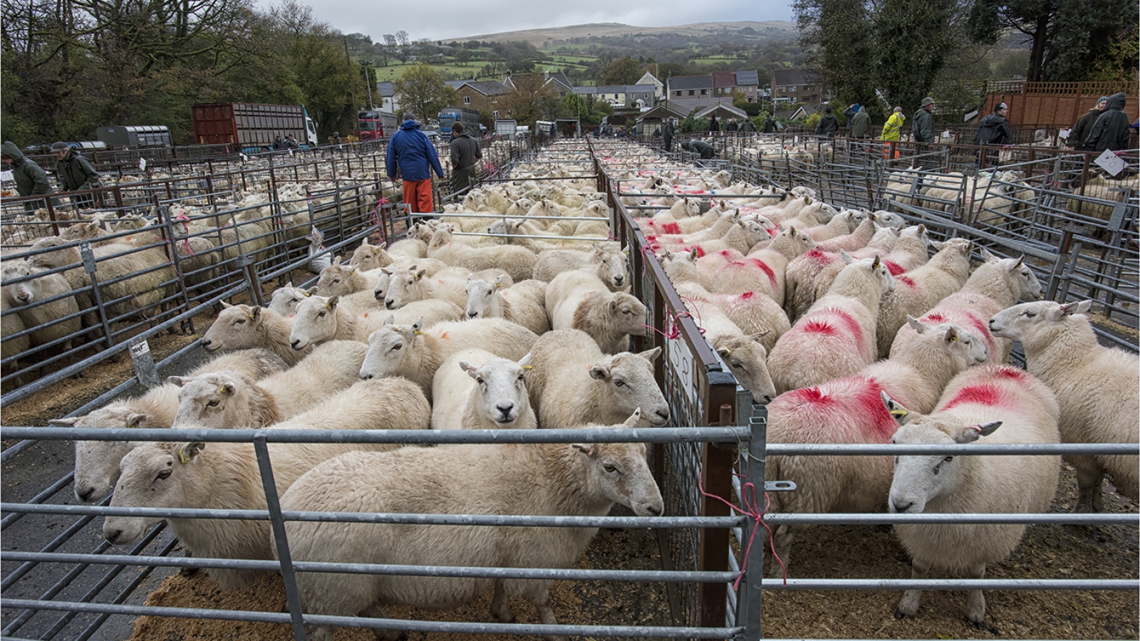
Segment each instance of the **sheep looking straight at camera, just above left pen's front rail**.
M535 429L523 368L530 360L507 360L479 348L461 349L432 380L433 430Z

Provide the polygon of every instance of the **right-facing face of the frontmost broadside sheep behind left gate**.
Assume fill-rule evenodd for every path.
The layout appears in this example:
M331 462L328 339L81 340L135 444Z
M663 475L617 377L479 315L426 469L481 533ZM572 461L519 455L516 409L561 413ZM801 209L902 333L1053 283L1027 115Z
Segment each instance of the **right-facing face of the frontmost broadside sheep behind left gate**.
M642 421L641 411L614 428L634 428ZM601 425L591 425L601 427ZM642 443L572 444L583 457L585 473L591 479L587 487L596 488L603 496L620 503L638 517L659 517L665 512L661 492L645 462Z

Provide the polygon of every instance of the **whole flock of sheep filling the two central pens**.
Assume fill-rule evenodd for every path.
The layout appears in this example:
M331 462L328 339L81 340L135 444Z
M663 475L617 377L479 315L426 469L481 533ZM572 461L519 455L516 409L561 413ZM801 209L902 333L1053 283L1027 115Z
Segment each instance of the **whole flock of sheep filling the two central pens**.
M668 168L644 148L601 160L657 255L738 381L768 407L772 443L1137 443L1134 355L1100 347L1089 303L1040 298L1016 258L930 240L889 212L838 211L807 188ZM583 159L588 157L581 154ZM645 167L658 169L644 170ZM364 242L267 307L227 305L202 339L210 362L138 398L56 421L107 428L534 429L665 425L654 380L661 348L628 293L627 255L609 240L593 178L522 164L472 190L391 246ZM629 186L633 187L629 187ZM712 194L715 192L715 194ZM771 203L771 204L764 204ZM641 211L641 210L638 210ZM930 250L934 254L930 255ZM634 250L636 251L636 250ZM1025 371L1004 365L1011 340ZM1122 416L1121 413L1125 415ZM253 447L223 443L78 441L75 495L113 506L267 509ZM646 451L634 444L272 444L282 509L334 512L604 516L663 511ZM1101 481L1138 498L1134 456L1067 457L1078 511L1102 508ZM1057 456L771 456L780 512L1044 512ZM472 488L478 488L473 493ZM107 517L106 538L138 541L158 519ZM274 559L264 521L168 519L195 557ZM294 560L570 567L596 529L430 527L290 521ZM899 526L915 577L982 576L1019 525ZM783 574L803 526L774 534ZM781 567L783 569L781 569ZM209 569L239 590L252 570ZM514 620L524 597L556 623L548 581L298 575L307 612L382 617L384 606L454 608L494 587L491 614ZM913 616L907 592L897 616ZM984 620L980 591L967 617ZM332 627L311 639L331 641ZM378 634L394 639L396 631Z

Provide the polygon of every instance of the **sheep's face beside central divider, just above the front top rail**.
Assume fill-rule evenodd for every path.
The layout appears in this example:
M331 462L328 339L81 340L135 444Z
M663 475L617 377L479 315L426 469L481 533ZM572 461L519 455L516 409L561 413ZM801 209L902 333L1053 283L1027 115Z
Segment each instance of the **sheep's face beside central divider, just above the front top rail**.
M640 407L643 422L658 427L668 423L669 404L653 379L653 359L660 354L659 347L641 354L625 351L591 366L591 378L605 386L608 398L603 405L618 414L632 414Z

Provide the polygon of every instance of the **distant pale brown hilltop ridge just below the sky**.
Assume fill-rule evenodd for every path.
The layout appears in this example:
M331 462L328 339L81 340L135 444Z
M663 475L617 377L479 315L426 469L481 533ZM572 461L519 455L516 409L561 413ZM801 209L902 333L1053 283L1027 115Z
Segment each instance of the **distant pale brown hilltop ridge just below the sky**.
M548 29L526 29L521 31L505 31L502 33L484 33L480 35L465 35L461 38L443 38L442 41L448 42L457 40L459 42L465 42L467 40L481 40L484 42L510 42L514 40L524 40L530 42L535 47L545 47L548 42L556 40L570 40L573 38L588 38L592 35L597 36L620 36L620 35L659 35L663 33L677 33L682 35L710 35L720 32L733 32L741 31L743 29L752 29L757 32L769 32L772 35L787 34L789 36L796 33L796 24L785 21L768 21L768 22L752 22L752 21L741 21L741 22L730 22L730 23L694 23L694 24L683 24L676 26L633 26L621 23L591 23L591 24L576 24L570 26L559 26Z

